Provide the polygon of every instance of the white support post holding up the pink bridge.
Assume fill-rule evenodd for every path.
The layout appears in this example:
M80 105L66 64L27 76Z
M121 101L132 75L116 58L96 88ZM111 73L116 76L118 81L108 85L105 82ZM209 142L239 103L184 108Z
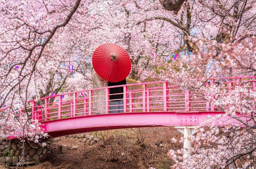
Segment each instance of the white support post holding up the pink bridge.
M193 135L198 130L194 130L195 126L176 126L175 128L184 135L183 157L187 158L191 155L191 142L189 136Z

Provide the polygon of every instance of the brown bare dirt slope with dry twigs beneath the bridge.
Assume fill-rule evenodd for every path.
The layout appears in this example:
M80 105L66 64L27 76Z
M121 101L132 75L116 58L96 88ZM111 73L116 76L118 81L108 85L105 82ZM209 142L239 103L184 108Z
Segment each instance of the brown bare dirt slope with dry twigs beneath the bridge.
M51 153L40 164L26 169L169 169L173 161L166 155L170 148L178 149L181 133L173 127L129 128L92 132L100 138L96 144L66 140L54 142ZM77 149L59 151L60 145L78 146Z

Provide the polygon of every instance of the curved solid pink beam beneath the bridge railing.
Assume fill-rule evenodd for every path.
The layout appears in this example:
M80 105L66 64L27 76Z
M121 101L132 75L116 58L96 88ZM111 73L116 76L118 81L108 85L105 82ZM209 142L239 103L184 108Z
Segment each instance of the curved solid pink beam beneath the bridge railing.
M117 113L73 117L42 123L45 132L47 132L51 137L58 137L76 133L111 130L118 128L199 125L203 122L203 119L205 119L207 115L215 116L217 114L220 114L220 112ZM245 119L245 117L242 119ZM230 117L225 117L221 120L226 121L222 123L222 125L227 125L227 121L231 122L232 125L241 124L237 120L231 119ZM214 123L217 123L217 121Z

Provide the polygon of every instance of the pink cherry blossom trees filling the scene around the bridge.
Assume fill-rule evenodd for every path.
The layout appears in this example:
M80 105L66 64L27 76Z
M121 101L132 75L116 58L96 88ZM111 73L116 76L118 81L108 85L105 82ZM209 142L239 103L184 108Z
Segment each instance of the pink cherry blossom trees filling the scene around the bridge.
M207 167L209 161L211 167L225 167L247 155L243 167L251 165L255 91L237 87L224 93L203 84L205 65L216 52L226 76L256 71L255 6L253 0L2 0L0 107L10 109L2 113L0 125L7 133L1 130L1 136L35 141L46 136L40 123L28 118L29 111L17 118L18 110L26 109L31 99L90 88L93 51L103 43L115 43L131 57L131 78L168 81L199 94L230 118L240 112L254 120L241 121L246 128L200 128L190 138L194 154L189 159L179 161L182 149L169 152L177 167ZM228 99L212 99L215 93Z

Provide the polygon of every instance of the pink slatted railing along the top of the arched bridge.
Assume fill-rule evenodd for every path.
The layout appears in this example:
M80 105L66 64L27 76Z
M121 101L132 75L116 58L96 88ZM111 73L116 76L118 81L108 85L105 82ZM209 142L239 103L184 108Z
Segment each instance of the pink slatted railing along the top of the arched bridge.
M235 86L249 83L250 88L256 89L256 76L224 77L222 89L232 90ZM210 85L214 79L210 79ZM208 86L208 83L205 83ZM110 94L110 88L123 88L122 93ZM95 94L97 94L95 96ZM121 95L121 99L110 99L112 95ZM214 96L212 96L214 97ZM118 100L121 102L117 103ZM214 111L199 94L182 91L179 86L167 82L148 82L109 86L105 88L87 89L65 94L57 94L41 98L41 105L29 101L32 106L31 118L39 122L87 116L110 114L113 112L202 112ZM113 104L113 102L116 102ZM28 110L28 109L27 109ZM22 114L21 110L21 114Z

